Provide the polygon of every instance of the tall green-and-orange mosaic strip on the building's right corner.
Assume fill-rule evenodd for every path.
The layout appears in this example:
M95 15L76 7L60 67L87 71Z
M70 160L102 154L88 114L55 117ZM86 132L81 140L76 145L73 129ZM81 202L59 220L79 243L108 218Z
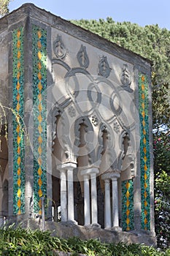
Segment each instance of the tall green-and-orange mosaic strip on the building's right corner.
M139 118L140 118L140 162L142 228L150 230L150 140L148 120L148 81L147 76L139 74Z

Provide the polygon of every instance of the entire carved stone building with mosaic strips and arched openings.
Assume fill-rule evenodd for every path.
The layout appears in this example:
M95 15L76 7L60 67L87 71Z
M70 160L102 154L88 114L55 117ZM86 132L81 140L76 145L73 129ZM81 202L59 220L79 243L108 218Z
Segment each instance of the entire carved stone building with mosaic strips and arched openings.
M33 4L0 23L1 222L155 244L150 62Z

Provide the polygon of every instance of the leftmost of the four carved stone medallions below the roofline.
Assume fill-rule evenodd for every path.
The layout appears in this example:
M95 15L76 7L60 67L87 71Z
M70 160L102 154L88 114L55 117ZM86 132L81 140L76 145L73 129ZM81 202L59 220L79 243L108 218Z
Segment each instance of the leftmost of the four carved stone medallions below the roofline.
M66 48L60 35L57 35L57 38L53 42L53 50L57 59L63 59L66 56Z

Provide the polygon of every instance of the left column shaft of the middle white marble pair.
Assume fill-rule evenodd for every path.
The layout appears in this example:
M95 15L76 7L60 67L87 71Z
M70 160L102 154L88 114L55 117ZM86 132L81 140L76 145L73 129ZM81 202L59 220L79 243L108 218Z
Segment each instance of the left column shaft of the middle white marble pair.
M90 225L90 191L89 191L89 176L84 175L84 212L85 225Z

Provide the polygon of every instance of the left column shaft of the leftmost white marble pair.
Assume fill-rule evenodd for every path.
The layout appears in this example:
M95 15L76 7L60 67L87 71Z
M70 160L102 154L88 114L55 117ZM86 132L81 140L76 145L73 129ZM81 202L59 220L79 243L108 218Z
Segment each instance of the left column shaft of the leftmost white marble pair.
M61 170L61 221L67 221L67 189L65 170Z

